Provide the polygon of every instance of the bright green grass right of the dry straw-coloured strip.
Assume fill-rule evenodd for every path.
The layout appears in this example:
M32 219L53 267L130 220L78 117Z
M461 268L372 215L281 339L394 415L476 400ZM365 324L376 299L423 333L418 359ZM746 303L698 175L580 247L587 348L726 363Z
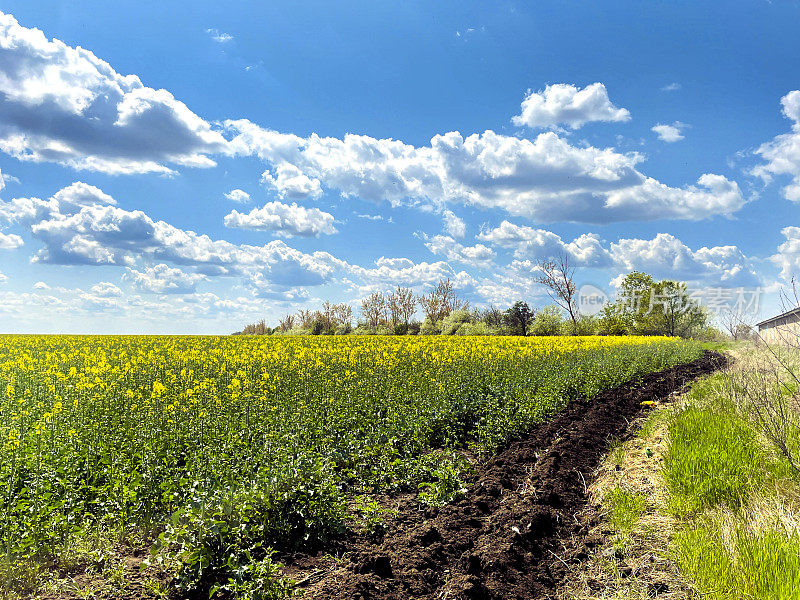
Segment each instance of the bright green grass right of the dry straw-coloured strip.
M672 554L702 598L800 598L800 535L790 500L800 482L759 433L748 403L757 396L741 393L763 361L747 354L738 358L744 372L696 383L684 399L688 407L667 413L663 475L669 508L683 520ZM796 428L787 431L797 435ZM787 441L792 447L800 442ZM775 498L777 490L781 496Z

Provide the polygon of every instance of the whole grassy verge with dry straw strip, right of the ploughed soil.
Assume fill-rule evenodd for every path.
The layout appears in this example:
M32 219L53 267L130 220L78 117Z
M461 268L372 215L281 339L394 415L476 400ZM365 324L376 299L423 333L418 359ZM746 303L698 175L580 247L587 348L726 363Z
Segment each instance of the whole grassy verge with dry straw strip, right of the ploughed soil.
M591 490L600 547L563 597L800 598L800 356L730 352L613 445Z

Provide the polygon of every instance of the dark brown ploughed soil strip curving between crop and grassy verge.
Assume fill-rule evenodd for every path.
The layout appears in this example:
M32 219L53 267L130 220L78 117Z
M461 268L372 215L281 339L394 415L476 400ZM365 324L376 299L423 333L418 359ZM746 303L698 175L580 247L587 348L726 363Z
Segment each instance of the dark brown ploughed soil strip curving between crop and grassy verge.
M336 561L284 557L287 571L315 600L552 598L569 565L597 543L588 537L597 517L586 510L587 487L609 442L625 436L643 401L667 398L725 362L706 352L573 401L481 466L462 500L420 510L402 499L382 540L348 540Z

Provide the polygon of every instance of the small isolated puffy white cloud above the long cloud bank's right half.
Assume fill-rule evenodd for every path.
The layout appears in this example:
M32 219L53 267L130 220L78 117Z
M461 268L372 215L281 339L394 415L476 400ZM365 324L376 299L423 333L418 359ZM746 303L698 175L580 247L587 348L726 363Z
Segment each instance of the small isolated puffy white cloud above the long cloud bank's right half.
M606 86L593 83L580 89L567 83L548 85L530 92L522 101L522 112L511 119L514 125L532 128L567 125L578 129L592 121L629 121L630 112L608 99Z

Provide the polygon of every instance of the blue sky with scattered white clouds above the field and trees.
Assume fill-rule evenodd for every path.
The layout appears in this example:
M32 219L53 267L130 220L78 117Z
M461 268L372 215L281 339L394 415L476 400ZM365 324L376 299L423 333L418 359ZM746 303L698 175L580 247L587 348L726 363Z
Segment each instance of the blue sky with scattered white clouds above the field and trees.
M0 331L227 333L451 277L800 270L800 3L17 2Z

